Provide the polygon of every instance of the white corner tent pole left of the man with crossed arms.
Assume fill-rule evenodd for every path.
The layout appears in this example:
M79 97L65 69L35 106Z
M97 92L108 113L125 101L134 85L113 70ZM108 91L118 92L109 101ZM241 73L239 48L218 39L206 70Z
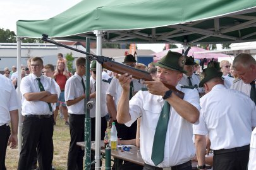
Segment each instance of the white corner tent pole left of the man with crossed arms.
M18 99L21 100L21 93L20 93L20 81L21 81L21 37L17 37L17 71L18 71ZM22 116L21 116L21 108L18 109L18 114L19 114L19 123L18 123L18 150L19 153L21 151L21 132L22 132Z

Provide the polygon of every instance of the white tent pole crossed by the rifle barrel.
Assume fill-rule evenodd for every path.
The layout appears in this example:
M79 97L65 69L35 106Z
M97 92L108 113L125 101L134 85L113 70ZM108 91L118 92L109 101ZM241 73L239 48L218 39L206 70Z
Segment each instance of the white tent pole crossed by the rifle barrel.
M97 55L102 55L103 31L94 31L97 37ZM96 64L96 120L95 120L95 169L101 169L101 82L102 67Z

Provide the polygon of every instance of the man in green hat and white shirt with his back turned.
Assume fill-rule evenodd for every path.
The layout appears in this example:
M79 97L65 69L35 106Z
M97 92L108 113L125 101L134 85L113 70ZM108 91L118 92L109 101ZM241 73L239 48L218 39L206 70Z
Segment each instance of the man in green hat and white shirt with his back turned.
M222 72L207 68L199 87L200 118L193 125L198 165L205 167L205 135L214 150L214 169L247 169L250 134L256 126L256 107L247 95L223 85Z

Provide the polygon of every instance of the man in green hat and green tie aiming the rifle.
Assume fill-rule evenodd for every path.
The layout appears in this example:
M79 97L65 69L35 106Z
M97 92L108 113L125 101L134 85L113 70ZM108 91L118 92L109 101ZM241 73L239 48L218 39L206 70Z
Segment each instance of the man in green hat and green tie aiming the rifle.
M182 89L178 84L184 64L185 57L169 51L155 64L158 79L145 81L149 91L138 91L130 101L131 76L116 76L123 88L118 102L118 122L130 126L142 116L140 152L145 162L143 169L192 169L190 160L195 155L192 123L198 120L200 106L197 90ZM167 88L167 84L173 90ZM178 97L177 89L185 94L183 99ZM162 122L164 130L161 130Z

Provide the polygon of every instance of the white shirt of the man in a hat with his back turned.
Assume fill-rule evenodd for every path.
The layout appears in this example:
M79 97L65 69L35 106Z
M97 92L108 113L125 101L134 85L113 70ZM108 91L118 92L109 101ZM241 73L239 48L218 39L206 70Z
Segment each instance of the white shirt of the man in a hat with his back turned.
M256 107L252 99L218 84L200 98L200 118L193 125L195 135L208 133L213 150L231 149L250 144L256 126Z

